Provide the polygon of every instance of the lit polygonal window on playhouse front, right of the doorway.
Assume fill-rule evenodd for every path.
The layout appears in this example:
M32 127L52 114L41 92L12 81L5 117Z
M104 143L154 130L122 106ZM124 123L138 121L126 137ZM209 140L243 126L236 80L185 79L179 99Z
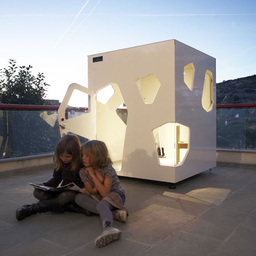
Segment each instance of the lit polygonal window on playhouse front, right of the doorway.
M144 76L137 80L140 95L145 104L151 104L157 95L161 83L154 74Z

